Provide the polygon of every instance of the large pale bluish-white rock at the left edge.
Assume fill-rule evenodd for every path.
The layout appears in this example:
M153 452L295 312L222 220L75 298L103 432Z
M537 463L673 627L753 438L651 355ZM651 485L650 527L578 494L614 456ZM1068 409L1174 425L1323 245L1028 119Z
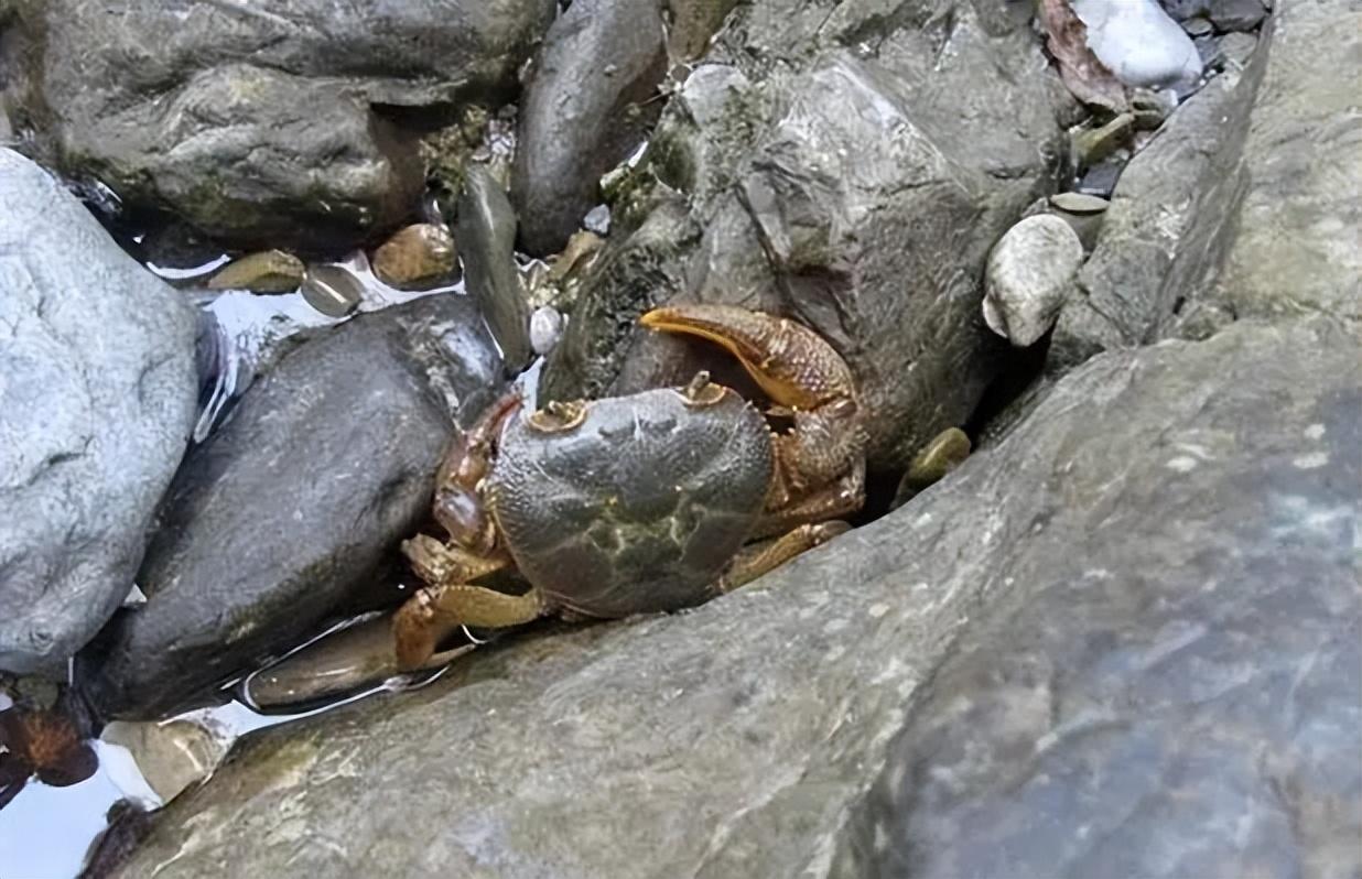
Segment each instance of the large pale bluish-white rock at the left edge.
M193 426L196 310L0 150L0 671L64 679Z

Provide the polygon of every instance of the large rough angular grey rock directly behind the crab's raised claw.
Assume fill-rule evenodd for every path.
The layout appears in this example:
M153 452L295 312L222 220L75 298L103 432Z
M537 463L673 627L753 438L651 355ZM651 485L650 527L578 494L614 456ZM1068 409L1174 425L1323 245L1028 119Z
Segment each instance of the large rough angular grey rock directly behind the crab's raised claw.
M853 19L849 4L740 5L643 159L663 192L616 211L595 269L637 253L636 216L661 211L666 234L647 233L659 259L640 267L654 283L584 284L541 397L625 393L712 366L699 346L635 327L659 301L699 299L787 314L829 339L869 401L876 469L902 472L963 423L997 354L979 318L983 263L1053 188L1062 87L1023 73L1043 64L1024 27L949 7L943 53L945 19L925 11L915 24L865 8ZM873 50L839 48L862 44Z

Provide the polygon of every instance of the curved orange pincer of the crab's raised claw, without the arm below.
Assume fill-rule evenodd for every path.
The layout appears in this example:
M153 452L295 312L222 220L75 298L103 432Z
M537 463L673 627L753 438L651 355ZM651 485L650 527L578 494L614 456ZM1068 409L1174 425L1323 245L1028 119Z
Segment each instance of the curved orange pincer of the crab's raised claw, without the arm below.
M700 336L727 348L772 401L816 410L855 400L851 367L823 336L785 317L734 305L677 305L639 318L644 327Z

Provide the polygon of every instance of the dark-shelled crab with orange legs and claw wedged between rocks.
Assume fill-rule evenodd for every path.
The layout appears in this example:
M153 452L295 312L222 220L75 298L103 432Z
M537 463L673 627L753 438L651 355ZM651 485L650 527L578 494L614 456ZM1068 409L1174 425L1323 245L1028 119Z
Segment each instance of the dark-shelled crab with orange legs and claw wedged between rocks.
M793 427L775 433L704 371L685 386L528 415L518 393L501 397L436 475L432 512L448 540L402 544L426 585L394 618L399 667L421 667L464 626L693 607L849 528L843 517L865 499L865 438L851 370L832 346L734 306L640 320L723 346ZM504 570L528 589L478 584Z

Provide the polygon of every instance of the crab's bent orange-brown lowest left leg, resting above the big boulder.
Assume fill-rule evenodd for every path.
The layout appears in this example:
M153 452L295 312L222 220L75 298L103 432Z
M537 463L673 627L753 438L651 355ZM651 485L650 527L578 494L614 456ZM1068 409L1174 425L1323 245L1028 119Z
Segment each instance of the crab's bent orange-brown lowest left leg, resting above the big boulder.
M548 612L537 589L507 595L462 582L428 586L398 608L392 620L398 667L421 668L460 626L501 629L533 622Z

